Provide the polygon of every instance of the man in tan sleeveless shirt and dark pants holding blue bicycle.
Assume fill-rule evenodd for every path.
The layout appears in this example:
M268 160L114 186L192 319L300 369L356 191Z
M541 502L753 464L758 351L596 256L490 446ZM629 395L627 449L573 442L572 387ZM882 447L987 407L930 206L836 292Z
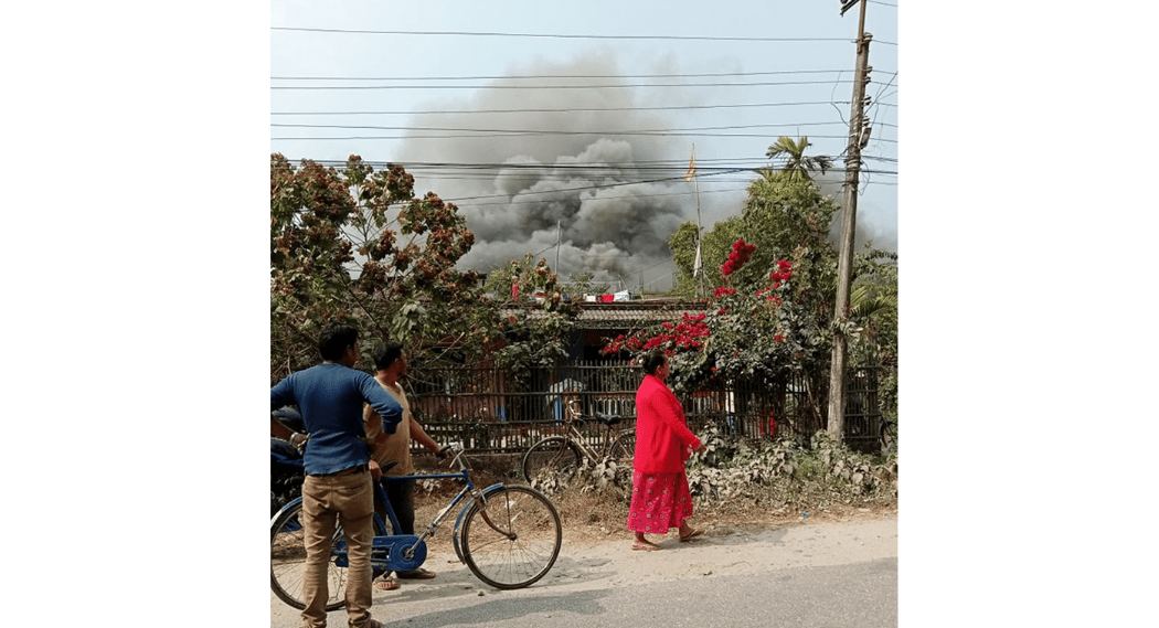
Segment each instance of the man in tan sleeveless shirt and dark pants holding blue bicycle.
M374 408L366 406L363 409L363 425L366 430L366 441L371 445L371 473L378 479L378 468L385 467L391 460L398 465L386 472L386 476L414 475L415 463L410 458L410 440L414 439L420 445L438 454L440 447L433 438L427 435L423 426L410 415L410 403L407 394L399 384L400 378L407 373L409 364L407 352L402 344L391 341L379 344L373 352L374 379L387 393L391 394L402 407L402 421L394 433L388 433L382 429L382 419ZM445 455L445 454L444 454ZM386 480L382 479L382 488L386 490L386 498L391 502L391 509L399 519L399 527L395 534L415 533L415 502L414 480ZM386 507L382 504L374 504L376 510L384 521L389 523ZM400 574L387 574L374 583L374 587L380 591L393 591L399 587L398 578L428 579L433 578L435 572L427 569L415 569Z

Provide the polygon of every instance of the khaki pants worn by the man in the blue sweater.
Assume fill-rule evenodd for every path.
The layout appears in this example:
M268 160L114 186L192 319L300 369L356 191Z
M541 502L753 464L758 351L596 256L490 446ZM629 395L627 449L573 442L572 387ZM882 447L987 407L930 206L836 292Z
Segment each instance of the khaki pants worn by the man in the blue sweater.
M335 526L341 524L347 538L347 615L350 626L370 626L370 552L374 539L374 489L370 473L349 475L307 475L301 485L301 524L306 541L306 572L301 612L302 626L326 626L329 598L326 571Z

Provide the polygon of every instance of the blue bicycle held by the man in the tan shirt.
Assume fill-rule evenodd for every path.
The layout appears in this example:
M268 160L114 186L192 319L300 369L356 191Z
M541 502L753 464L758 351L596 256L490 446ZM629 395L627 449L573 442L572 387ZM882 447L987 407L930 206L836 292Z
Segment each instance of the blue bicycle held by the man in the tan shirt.
M462 447L447 445L439 453L447 451L458 451L451 461L458 465L458 473L387 477L389 481L455 479L465 485L418 535L389 534L386 521L374 513L371 553L374 577L387 571L418 569L427 560L427 539L435 535L454 506L467 499L454 523L453 545L459 561L496 589L523 589L542 578L555 564L563 543L563 528L555 505L542 492L522 484L497 483L476 489L471 480L471 467L462 458ZM398 531L398 518L381 483L374 482L374 494L385 505L392 530ZM301 594L306 548L300 513L301 497L298 497L270 521L270 587L282 601L298 609L306 607ZM349 565L341 526L335 530L331 542L327 611L345 605Z

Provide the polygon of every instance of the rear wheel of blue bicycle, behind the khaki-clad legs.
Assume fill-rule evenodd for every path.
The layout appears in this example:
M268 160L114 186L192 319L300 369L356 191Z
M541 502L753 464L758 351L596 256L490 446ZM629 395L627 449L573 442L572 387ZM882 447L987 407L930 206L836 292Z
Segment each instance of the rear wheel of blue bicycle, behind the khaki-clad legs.
M386 534L385 527L374 519L374 534ZM334 564L335 549L345 548L342 526L336 526L331 539L331 555L326 565L326 609L335 611L347 604L347 568ZM374 571L376 577L381 571ZM270 589L282 601L301 611L306 608L302 585L306 575L305 531L301 526L301 502L285 509L270 524Z

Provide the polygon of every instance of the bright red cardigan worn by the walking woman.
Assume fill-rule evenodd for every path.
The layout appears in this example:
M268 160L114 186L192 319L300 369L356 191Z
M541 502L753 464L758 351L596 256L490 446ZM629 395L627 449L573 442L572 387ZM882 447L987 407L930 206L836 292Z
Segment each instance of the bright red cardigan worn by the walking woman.
M699 446L672 390L656 375L644 375L636 390L635 470L684 473L684 461Z

